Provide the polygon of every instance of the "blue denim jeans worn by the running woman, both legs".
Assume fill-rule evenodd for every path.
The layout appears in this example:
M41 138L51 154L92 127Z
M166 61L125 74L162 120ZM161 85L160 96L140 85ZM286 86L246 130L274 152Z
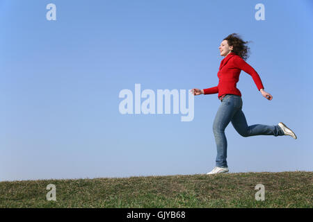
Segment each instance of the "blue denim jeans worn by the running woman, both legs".
M217 149L216 167L228 167L226 161L227 139L225 137L225 128L230 121L235 130L243 137L256 135L273 135L277 137L284 135L284 132L278 125L268 126L255 124L248 126L245 114L243 114L241 110L241 96L227 94L221 102L213 124L213 133Z

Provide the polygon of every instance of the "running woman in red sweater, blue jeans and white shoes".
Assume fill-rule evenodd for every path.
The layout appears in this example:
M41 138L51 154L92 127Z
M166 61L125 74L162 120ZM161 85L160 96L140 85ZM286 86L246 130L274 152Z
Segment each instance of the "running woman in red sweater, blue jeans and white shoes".
M257 85L257 89L259 89L259 92L261 92L262 96L268 99L268 101L271 101L273 96L264 90L259 74L245 61L248 58L249 50L247 44L248 42L244 42L236 33L225 37L218 47L220 56L225 57L220 62L218 85L207 89L191 89L191 92L195 96L218 93L218 99L220 99L221 102L213 124L213 133L217 149L216 167L207 174L226 173L229 171L226 161L227 139L225 137L225 128L230 122L232 122L232 126L234 126L235 130L243 137L256 135L273 135L277 137L289 135L297 139L295 133L282 122L275 126L262 124L248 126L246 117L242 112L243 103L241 92L236 88L241 70L252 76L255 85Z

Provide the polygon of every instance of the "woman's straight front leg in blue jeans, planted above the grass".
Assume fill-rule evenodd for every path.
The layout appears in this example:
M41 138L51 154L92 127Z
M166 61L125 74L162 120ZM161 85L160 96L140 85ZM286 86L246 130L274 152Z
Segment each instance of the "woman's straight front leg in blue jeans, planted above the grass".
M239 98L234 95L225 96L216 113L213 123L213 133L217 150L216 167L227 167L227 139L225 136L225 128L239 108L237 105Z

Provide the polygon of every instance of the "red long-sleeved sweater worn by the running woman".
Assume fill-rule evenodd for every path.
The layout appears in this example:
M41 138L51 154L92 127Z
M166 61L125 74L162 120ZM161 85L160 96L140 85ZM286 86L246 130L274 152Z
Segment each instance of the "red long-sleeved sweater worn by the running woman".
M257 71L255 71L255 69L253 69L240 56L237 56L235 53L229 53L222 62L220 62L220 69L218 70L218 86L203 89L204 94L218 93L218 97L223 96L223 94L235 94L241 96L241 92L236 88L241 70L252 76L255 85L257 85L257 89L264 89Z

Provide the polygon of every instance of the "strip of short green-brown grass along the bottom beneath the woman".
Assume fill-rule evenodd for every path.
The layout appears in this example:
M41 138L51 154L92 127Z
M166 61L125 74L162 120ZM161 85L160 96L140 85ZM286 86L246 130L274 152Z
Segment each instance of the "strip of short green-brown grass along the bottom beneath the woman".
M310 207L313 172L0 182L0 207ZM56 201L46 199L56 185ZM255 185L265 200L255 200Z

